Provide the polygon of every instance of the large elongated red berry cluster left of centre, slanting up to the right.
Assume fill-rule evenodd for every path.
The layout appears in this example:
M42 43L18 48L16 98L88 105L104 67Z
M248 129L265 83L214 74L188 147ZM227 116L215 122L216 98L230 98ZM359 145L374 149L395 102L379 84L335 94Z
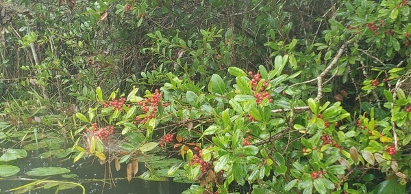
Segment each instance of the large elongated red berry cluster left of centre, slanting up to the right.
M145 124L148 120L157 117L155 115L155 112L158 110L158 105L161 100L161 94L158 89L155 89L155 92L151 95L150 98L145 98L145 100L142 100L140 102L137 102L137 105L141 106L141 110L143 113L145 113L146 117L144 117L142 120L140 120L139 116L136 116L134 118L134 124ZM169 104L163 104L168 106Z

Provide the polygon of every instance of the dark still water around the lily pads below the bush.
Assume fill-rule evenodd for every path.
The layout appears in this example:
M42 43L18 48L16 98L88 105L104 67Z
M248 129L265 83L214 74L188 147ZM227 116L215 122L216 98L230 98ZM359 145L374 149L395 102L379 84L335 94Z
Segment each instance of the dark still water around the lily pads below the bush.
M31 155L31 156L30 156ZM47 180L61 180L67 182L77 182L82 184L86 188L86 193L144 193L144 194L168 194L168 193L182 193L186 190L190 184L182 184L173 182L172 179L166 182L155 182L141 180L140 178L133 178L130 182L127 181L125 164L121 164L121 170L116 171L114 169L114 163L111 166L111 174L114 180L114 184L110 184L108 166L100 165L98 161L93 162L92 159L80 160L73 164L72 159L62 160L62 159L41 159L38 158L38 151L29 151L27 158L21 158L14 163L14 165L21 168L21 171L16 175L4 180L0 180L0 189L2 192L8 189L13 189L18 186L23 186L34 182L34 179L40 180L47 177L34 177L27 176L25 172L34 169L35 167L66 167L71 169L71 174L75 174L74 178L63 178L61 175L49 176ZM34 158L37 157L37 158ZM140 175L147 169L143 163L139 165ZM32 179L32 180L27 180ZM103 180L106 182L104 183ZM7 192L5 192L7 193ZM43 189L34 187L32 191L27 193L39 193L48 194L55 193L55 187L51 189ZM82 193L82 189L78 186L73 189L66 189L59 191L58 193Z

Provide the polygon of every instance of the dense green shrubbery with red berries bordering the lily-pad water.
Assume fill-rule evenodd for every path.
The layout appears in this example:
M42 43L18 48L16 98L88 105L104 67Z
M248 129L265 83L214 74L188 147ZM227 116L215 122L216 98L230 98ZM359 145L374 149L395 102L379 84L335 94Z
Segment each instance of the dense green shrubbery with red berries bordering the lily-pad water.
M177 158L145 176L185 193L411 191L408 1L0 5L3 117L62 113L74 161Z

